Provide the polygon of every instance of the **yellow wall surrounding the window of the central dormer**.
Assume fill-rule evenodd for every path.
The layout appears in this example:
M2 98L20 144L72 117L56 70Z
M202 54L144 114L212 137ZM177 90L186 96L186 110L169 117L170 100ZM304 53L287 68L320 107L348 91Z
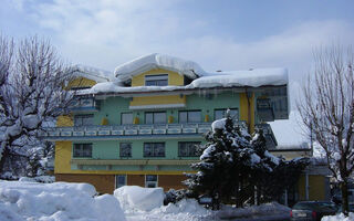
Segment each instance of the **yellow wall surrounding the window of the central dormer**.
M144 72L139 75L133 76L132 86L144 86L145 85L145 76L146 75L156 75L156 74L168 74L168 85L183 86L185 83L184 75L180 75L176 72L171 72L168 70L156 69L156 70L150 70L148 72Z

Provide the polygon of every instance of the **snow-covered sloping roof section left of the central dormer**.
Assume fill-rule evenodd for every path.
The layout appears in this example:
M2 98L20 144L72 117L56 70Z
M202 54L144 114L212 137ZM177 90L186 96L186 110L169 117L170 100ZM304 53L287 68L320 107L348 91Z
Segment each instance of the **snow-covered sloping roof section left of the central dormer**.
M81 64L74 65L73 69L75 70L74 72L75 76L86 77L97 83L114 81L113 73L105 70L81 65Z

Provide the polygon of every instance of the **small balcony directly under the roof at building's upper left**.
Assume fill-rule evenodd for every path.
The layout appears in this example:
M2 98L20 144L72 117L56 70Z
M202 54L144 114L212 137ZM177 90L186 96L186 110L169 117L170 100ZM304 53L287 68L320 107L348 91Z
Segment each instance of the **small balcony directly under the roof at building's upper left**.
M100 110L100 103L92 96L76 96L70 106L72 112L97 112Z

